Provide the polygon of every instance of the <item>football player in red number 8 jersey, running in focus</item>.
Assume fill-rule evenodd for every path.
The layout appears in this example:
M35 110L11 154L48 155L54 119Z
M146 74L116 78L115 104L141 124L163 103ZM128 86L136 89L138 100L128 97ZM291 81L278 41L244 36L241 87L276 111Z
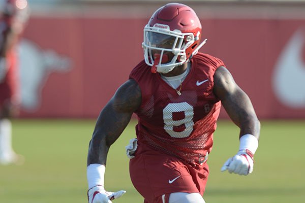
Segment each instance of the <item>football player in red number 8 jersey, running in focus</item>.
M88 201L111 202L125 193L104 187L110 146L131 116L136 139L127 146L130 177L145 203L202 203L221 104L240 128L239 149L221 171L249 175L260 122L248 95L224 62L198 52L201 23L183 4L159 8L144 27L144 60L101 111L87 158Z

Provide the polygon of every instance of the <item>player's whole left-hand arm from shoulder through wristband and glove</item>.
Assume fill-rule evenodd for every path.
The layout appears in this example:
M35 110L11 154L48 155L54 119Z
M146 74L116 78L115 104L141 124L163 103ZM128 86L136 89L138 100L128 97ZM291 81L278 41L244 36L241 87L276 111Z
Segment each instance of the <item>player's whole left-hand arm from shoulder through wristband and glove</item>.
M126 128L133 112L139 108L140 104L140 88L134 80L128 80L117 89L101 111L89 143L87 157L88 200L90 203L108 202L109 199L118 198L125 193L123 190L115 193L105 191L106 159L110 146Z

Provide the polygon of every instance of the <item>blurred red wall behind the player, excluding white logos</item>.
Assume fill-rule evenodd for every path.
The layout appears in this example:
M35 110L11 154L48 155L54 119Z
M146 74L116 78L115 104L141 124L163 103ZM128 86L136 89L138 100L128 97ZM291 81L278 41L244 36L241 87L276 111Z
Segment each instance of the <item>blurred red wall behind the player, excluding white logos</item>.
M69 72L51 72L42 84L40 105L23 117L97 117L116 88L143 58L143 27L147 18L32 17L24 38L42 50L71 59ZM273 90L277 61L305 19L201 19L201 52L225 62L236 82L253 101L260 118L305 118L303 106L283 103ZM302 41L300 41L302 43ZM302 44L302 47L303 44ZM305 71L305 52L301 59ZM297 64L291 64L292 66ZM305 74L304 74L305 75ZM295 80L287 75L287 81ZM298 79L299 80L299 79ZM299 81L305 97L305 76ZM291 86L292 87L292 86ZM287 94L287 97L290 95ZM222 113L222 117L226 117Z

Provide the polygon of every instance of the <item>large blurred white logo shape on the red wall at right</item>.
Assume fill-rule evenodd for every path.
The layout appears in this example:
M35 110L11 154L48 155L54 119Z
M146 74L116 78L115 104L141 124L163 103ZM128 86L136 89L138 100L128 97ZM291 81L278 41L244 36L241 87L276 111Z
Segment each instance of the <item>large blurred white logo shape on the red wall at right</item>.
M298 29L280 54L272 77L275 95L285 106L305 108L305 63L302 60L302 46L305 32Z

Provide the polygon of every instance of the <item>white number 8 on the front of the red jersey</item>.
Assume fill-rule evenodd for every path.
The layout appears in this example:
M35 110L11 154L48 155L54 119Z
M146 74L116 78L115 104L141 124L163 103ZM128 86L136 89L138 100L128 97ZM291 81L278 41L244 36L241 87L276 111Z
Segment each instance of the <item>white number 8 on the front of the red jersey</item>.
M184 113L181 120L173 120L173 113ZM163 109L163 121L165 131L173 138L187 138L193 131L194 107L186 102L171 103ZM185 125L184 130L174 131L174 127Z

